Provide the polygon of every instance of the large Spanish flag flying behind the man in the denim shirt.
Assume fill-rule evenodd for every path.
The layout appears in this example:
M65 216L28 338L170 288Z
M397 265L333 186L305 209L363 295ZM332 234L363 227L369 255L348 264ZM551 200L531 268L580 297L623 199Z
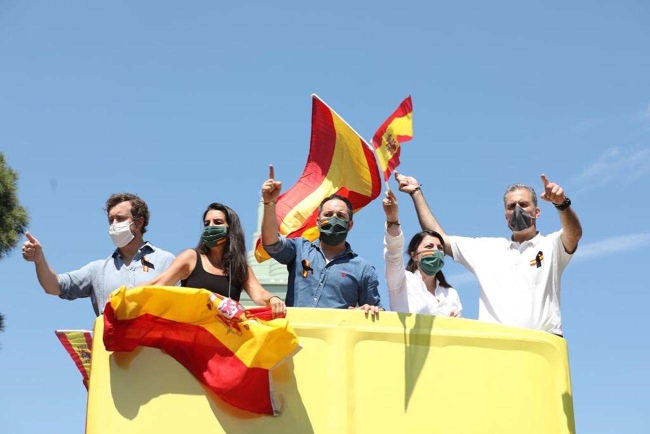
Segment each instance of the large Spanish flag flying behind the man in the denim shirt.
M318 205L334 193L352 202L359 211L378 197L382 180L370 145L317 95L311 96L311 142L302 176L278 198L279 232L286 237L318 238ZM261 243L255 258L270 258Z

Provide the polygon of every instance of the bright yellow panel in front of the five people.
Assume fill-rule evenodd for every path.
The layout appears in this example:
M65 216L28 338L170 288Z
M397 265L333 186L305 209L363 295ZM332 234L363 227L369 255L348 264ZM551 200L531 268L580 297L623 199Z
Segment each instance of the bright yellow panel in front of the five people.
M235 409L162 351L109 353L95 324L86 431L574 433L565 340L471 319L289 308L303 349L279 416Z

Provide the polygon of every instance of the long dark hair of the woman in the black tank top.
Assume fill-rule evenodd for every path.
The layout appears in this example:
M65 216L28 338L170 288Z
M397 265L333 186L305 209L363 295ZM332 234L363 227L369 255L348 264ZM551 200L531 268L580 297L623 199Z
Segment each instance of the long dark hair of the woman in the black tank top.
M228 224L228 234L226 242L226 251L221 260L226 273L232 279L233 286L237 288L244 288L244 283L248 280L248 262L246 261L246 243L244 243L244 231L239 222L239 216L232 208L224 204L213 202L207 206L207 210L203 213L201 223L205 221L205 215L208 211L215 210L221 211L226 215L226 223ZM207 254L209 247L205 245L203 239L199 239L196 246L196 251L202 254Z

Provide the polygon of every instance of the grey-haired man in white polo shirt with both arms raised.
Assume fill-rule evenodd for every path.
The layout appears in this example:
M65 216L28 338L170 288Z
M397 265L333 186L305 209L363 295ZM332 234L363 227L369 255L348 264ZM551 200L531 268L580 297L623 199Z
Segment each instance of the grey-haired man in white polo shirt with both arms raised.
M539 234L540 210L534 189L512 184L503 197L505 217L512 237L448 236L426 204L415 178L395 174L400 191L413 198L423 230L435 230L445 239L445 254L465 265L480 286L478 319L526 327L562 336L560 280L582 236L582 227L571 200L560 185L544 174L541 198L558 210L562 229Z

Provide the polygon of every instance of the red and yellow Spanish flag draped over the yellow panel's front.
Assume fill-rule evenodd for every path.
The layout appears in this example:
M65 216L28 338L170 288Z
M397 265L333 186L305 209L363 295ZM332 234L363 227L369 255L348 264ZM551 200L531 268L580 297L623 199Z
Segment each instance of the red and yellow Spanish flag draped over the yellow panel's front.
M270 308L244 310L208 290L122 286L104 310L103 340L109 351L160 348L227 403L278 414L270 370L300 347L287 319L270 318Z

